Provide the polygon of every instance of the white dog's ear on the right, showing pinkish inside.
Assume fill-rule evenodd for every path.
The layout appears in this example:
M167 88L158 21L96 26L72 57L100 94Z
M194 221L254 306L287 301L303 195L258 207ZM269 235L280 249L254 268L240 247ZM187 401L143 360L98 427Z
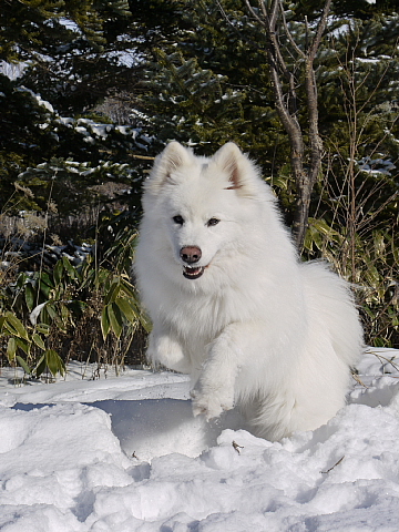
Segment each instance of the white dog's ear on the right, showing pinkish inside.
M234 142L227 142L227 144L222 146L212 157L212 162L227 174L228 184L225 187L226 190L236 190L245 196L250 196L255 193L252 186L254 182L252 177L257 175L257 170Z

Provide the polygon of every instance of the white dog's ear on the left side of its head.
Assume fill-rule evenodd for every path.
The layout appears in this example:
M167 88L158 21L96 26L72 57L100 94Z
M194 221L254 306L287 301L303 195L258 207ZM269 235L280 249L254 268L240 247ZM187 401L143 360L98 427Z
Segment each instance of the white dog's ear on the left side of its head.
M157 193L164 183L171 181L171 175L180 166L188 164L193 155L190 150L176 141L170 142L165 150L155 157L150 178L145 183L146 190Z

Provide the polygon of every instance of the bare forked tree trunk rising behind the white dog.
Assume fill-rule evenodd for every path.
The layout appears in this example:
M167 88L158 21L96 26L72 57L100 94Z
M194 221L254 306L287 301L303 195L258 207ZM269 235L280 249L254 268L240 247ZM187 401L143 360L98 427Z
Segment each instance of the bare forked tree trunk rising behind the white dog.
M267 57L270 70L278 116L288 134L290 144L290 163L297 187L297 201L293 223L293 235L298 252L304 247L308 224L310 194L320 172L323 142L318 131L317 85L314 61L319 48L323 32L326 29L331 0L326 0L313 41L307 50L301 50L289 31L283 7L283 0L257 0L255 9L249 0L245 0L248 11L263 25L267 40ZM304 64L305 93L308 112L308 142L304 141L304 132L297 120L296 80L285 63L278 33L287 38L291 53Z

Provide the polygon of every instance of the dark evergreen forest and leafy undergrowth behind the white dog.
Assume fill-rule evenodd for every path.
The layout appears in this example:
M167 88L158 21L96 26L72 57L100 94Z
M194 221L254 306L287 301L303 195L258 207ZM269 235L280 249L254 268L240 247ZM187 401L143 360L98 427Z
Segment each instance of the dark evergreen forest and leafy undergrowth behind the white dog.
M297 245L354 284L367 342L398 348L396 3L329 7L311 64L320 162ZM153 157L170 140L204 155L234 141L295 228L300 191L279 103L300 132L306 174L306 58L325 4L0 4L1 364L31 378L63 374L70 358L141 364L151 325L130 268Z

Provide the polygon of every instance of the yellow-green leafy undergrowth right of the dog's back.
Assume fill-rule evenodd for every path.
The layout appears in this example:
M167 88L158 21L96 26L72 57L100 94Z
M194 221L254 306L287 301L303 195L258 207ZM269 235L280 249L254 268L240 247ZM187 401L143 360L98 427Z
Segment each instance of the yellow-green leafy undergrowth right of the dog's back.
M362 317L366 338L375 347L397 347L399 342L399 242L393 231L371 232L364 239L349 237L347 228L331 227L325 219L310 219L305 249L315 250L351 280Z

